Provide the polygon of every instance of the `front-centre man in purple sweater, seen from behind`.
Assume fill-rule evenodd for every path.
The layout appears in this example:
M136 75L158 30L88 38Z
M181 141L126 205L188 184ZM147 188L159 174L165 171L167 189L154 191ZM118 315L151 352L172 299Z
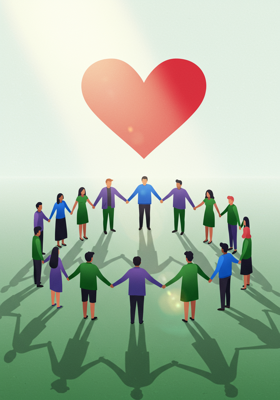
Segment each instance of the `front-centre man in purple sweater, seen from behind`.
M133 259L134 268L131 268L122 278L110 285L112 288L129 278L128 294L130 297L130 322L134 324L136 302L138 307L139 324L143 324L144 296L146 296L145 278L156 286L162 288L162 284L155 280L144 268L140 268L141 258Z

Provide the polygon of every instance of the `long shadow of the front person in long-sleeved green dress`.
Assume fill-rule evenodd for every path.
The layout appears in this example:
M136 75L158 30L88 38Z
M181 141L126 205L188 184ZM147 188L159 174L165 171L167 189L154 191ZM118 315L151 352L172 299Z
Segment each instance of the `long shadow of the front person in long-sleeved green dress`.
M236 378L239 350L235 350L230 362L230 366L228 366L228 363L226 362L224 354L216 342L216 339L211 338L202 328L202 326L196 321L194 321L194 324L200 334L196 332L191 324L186 324L186 328L188 328L196 340L194 343L192 343L192 346L208 366L210 372L184 364L177 364L177 367L203 376L217 385L224 385L226 396L236 397L238 395L238 389L232 385L231 382L233 382Z

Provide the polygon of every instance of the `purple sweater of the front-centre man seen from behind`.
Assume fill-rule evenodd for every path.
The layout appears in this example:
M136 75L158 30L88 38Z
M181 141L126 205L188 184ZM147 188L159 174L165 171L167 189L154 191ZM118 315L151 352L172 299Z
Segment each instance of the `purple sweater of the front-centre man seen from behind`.
M162 287L162 284L155 280L144 268L134 267L128 270L126 274L115 283L117 286L129 278L128 295L129 296L146 296L145 278L156 286Z

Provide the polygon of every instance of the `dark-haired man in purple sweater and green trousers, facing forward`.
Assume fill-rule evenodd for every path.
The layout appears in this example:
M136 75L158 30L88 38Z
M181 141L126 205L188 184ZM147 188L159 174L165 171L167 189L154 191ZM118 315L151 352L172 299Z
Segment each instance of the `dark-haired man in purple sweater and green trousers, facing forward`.
M186 209L186 199L194 208L194 203L192 202L192 199L188 195L188 192L185 189L182 189L182 181L176 179L176 188L172 189L170 193L168 193L167 196L165 196L161 203L164 202L164 200L168 199L170 196L173 196L173 208L174 208L174 230L172 230L172 233L178 231L178 221L179 221L179 215L180 215L180 222L181 222L181 233L182 235L185 230L185 209Z

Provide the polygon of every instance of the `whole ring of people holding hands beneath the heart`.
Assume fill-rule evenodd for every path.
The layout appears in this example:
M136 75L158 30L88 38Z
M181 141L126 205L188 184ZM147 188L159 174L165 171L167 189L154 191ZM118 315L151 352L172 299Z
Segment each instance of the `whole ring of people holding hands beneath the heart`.
M216 274L219 274L219 284L220 284L220 300L221 307L218 308L219 311L224 311L225 308L230 308L230 278L232 275L232 262L235 264L241 264L240 274L244 276L244 286L241 290L246 290L246 287L250 285L250 274L252 273L252 241L250 235L250 223L248 217L244 217L242 220L242 224L240 224L240 219L238 216L238 211L236 205L234 203L234 198L232 196L228 196L228 206L225 210L220 214L218 210L218 206L214 200L214 195L212 190L207 190L205 194L204 200L198 204L198 206L194 206L188 192L182 188L182 181L176 179L176 188L172 189L170 193L168 193L163 199L157 194L152 185L148 184L148 178L146 176L142 177L142 184L137 186L132 195L126 199L122 196L115 188L111 186L112 179L106 179L106 186L102 188L98 197L96 198L94 204L92 204L89 198L86 196L85 188L81 187L78 190L78 197L74 203L72 211L67 206L64 201L64 196L62 193L57 195L56 203L52 209L50 214L50 218L47 218L42 212L42 203L38 202L36 204L37 211L34 214L34 236L32 240L32 258L34 265L34 284L37 285L38 288L42 288L40 278L41 278L41 270L42 264L44 262L49 262L50 265L50 290L51 290L51 300L52 306L57 306L57 308L62 308L60 306L60 293L62 292L62 276L61 272L67 278L67 280L71 280L78 274L80 274L80 288L82 294L82 306L83 306L83 315L84 319L88 318L87 315L87 307L88 307L88 299L90 302L90 314L91 319L96 320L96 316L94 316L94 306L96 303L96 290L97 290L97 277L102 280L105 284L114 288L118 286L122 282L129 279L129 287L128 294L130 296L130 322L134 324L135 319L135 311L136 304L138 308L138 319L139 323L143 323L143 311L144 311L144 296L146 296L145 289L145 279L149 280L151 283L159 286L160 288L166 288L166 286L171 285L182 277L182 287L181 287L181 297L180 300L184 302L184 319L183 322L188 322L188 310L189 310L189 302L191 303L191 314L190 319L194 321L195 314L195 306L196 300L198 300L198 274L202 276L202 278L208 280L208 282L212 282L212 279ZM169 280L166 284L161 284L157 280L155 280L144 268L140 268L141 258L136 256L133 258L134 268L130 268L116 282L113 284L110 283L100 272L98 267L95 264L92 264L94 252L86 252L85 260L78 266L78 268L68 276L64 267L62 265L62 261L59 257L60 248L62 246L66 246L64 240L67 238L67 226L66 226L66 218L65 218L65 209L70 212L72 215L77 204L78 204L78 212L77 212L77 225L79 226L79 234L80 240L87 240L86 236L86 224L88 223L88 212L86 208L86 202L88 202L92 208L95 208L98 202L102 198L102 212L103 212L103 230L104 234L107 234L107 223L109 216L110 230L112 232L116 232L114 230L114 209L115 209L115 195L121 198L123 201L128 204L136 194L138 194L138 206L139 206L139 230L143 227L143 218L144 211L146 216L146 226L148 230L150 228L150 206L152 203L152 193L160 203L163 203L166 199L173 196L173 208L174 208L174 230L172 233L178 232L178 222L180 216L180 224L181 224L181 235L184 234L184 226L185 226L185 209L186 209L186 199L192 206L194 210L196 208L205 205L204 219L203 225L205 226L205 240L203 243L211 244L212 243L212 233L213 228L215 226L215 216L213 206L216 208L219 217L227 213L227 222L228 222L228 233L229 233L229 241L230 247L226 243L220 243L221 247L221 256L218 259L218 263L215 271L212 276L209 278L202 269L192 262L193 253L191 251L186 251L184 255L186 256L186 262L184 266L182 266L181 270L178 272L174 278ZM52 249L52 253L44 260L45 253L43 252L43 233L44 233L44 220L50 222L52 216L56 212L56 225L55 225L55 240L57 241L57 246ZM239 229L243 227L242 238L244 239L242 245L242 254L240 259L238 260L233 256L237 252L237 225ZM82 238L83 231L83 238ZM210 234L210 240L208 241L208 231ZM60 246L61 241L61 246ZM234 246L233 246L234 245ZM234 250L232 253L229 253L229 250ZM55 301L56 296L56 303Z

